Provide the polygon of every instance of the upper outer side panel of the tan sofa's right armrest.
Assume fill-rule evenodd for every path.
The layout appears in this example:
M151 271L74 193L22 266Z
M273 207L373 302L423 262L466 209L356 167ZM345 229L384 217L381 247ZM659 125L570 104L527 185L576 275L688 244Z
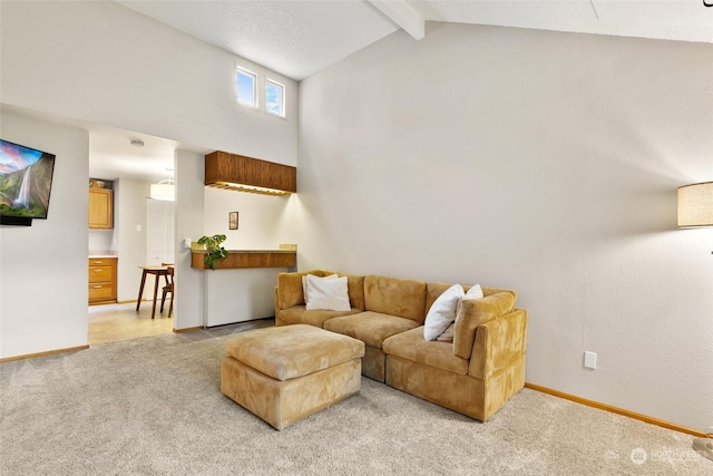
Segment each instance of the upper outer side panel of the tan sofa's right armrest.
M468 373L487 379L520 360L527 349L527 311L512 312L478 327Z

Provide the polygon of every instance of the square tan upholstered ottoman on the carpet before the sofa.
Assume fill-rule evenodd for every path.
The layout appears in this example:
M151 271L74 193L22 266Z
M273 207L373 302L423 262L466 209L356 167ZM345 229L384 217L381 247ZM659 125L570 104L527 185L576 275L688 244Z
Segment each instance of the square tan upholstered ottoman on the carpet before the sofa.
M364 343L306 324L243 332L221 366L221 391L276 429L356 394Z

